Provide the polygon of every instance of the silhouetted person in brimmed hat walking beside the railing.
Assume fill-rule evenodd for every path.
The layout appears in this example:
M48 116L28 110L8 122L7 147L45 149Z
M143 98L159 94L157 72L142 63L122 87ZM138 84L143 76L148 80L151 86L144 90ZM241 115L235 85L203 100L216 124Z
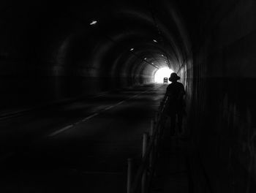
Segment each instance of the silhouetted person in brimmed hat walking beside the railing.
M177 82L179 79L180 77L175 72L170 74L169 80L172 83L167 86L165 97L162 101L164 103L167 99L165 102L164 113L167 114L167 116L170 116L170 134L173 134L173 132L176 134L182 132L182 119L185 112L185 89L182 83ZM176 117L178 118L178 132L176 132L175 129Z

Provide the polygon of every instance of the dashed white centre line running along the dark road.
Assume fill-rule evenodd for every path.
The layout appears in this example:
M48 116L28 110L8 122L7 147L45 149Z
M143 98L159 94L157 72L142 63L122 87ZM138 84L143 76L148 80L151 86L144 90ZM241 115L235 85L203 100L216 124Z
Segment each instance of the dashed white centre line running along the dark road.
M150 90L151 90L151 89L148 89L147 91L150 91ZM146 93L147 91L143 91L143 92L141 92L140 94ZM104 110L102 110L101 112L104 112L104 111L106 111L106 110L110 110L110 109L113 108L113 107L116 107L116 106L118 106L118 105L121 105L122 103L128 101L129 99L133 99L133 98L139 96L140 94L136 94L135 96L131 96L131 97L129 97L129 98L126 99L126 100L123 100L123 101L121 101L121 102L116 103L116 105L110 105L109 107L106 107L106 108L105 108ZM61 132L64 132L64 131L66 131L67 129L72 128L73 126L75 126L75 125L77 125L77 124L80 124L80 122L87 121L87 120L89 120L90 118L93 118L94 116L98 116L98 115L99 115L99 113L94 113L94 114L92 114L91 116L88 116L88 117L83 118L82 120L76 122L75 124L72 124L72 125L69 125L69 126L65 126L64 128L59 129L59 130L57 130L56 132L51 133L50 135L48 135L48 137L53 137L53 136L55 136L55 135L58 135L58 134L60 134Z

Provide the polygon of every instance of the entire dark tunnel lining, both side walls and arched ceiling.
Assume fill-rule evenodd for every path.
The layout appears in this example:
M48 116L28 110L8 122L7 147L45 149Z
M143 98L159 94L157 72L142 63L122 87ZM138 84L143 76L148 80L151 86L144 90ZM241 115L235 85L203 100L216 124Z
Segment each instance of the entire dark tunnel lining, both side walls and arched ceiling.
M255 2L98 3L3 1L0 106L150 83L156 67L169 65L187 91L187 134L207 186L253 192Z

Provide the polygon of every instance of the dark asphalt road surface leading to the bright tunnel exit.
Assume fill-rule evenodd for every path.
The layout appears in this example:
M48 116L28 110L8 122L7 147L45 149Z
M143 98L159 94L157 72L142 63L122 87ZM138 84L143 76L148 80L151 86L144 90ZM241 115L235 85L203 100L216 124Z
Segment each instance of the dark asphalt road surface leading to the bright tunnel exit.
M124 89L0 121L0 192L125 192L166 85Z

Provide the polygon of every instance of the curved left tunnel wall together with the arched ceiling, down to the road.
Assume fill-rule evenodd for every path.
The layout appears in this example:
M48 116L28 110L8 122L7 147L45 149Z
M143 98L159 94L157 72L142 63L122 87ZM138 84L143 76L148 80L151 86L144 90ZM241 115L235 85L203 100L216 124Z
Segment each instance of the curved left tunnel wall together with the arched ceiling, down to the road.
M168 1L152 3L154 12L145 2L100 2L103 10L97 4L3 2L0 107L149 83L165 61L178 69L187 58Z

